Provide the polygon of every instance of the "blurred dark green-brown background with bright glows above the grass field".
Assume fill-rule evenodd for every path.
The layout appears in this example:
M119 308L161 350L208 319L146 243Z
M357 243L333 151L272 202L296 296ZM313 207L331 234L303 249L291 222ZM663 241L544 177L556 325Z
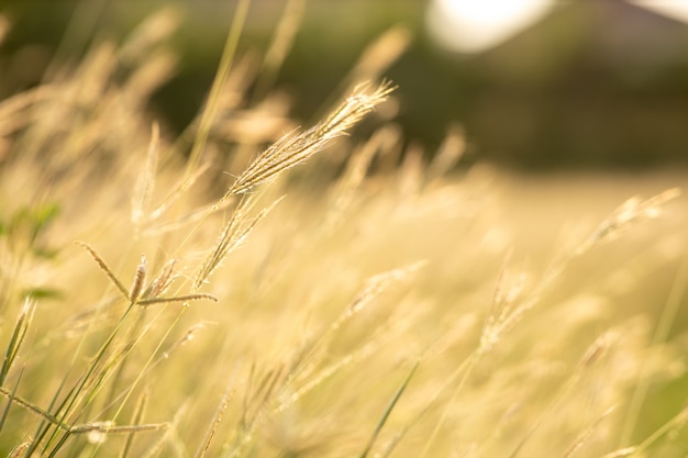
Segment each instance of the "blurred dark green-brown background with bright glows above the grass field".
M78 57L93 38L125 36L175 5L178 68L152 109L181 131L212 82L236 0L0 4L10 24L2 98L40 82L56 52ZM282 14L284 1L253 0L241 52L264 53ZM385 75L399 86L408 142L428 155L459 125L469 160L512 169L688 166L688 1L308 0L301 14L275 85L303 123L342 89L367 45L401 26L409 48Z

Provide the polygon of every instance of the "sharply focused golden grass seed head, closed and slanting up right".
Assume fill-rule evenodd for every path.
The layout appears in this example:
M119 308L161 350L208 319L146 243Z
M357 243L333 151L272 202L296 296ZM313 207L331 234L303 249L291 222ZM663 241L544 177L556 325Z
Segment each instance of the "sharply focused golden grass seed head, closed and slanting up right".
M324 122L306 132L295 130L287 133L263 152L244 170L226 191L222 200L243 194L257 185L276 177L278 174L303 163L323 150L334 138L346 132L376 105L387 100L393 90L388 83L368 91L367 85L358 86L352 96L334 110Z

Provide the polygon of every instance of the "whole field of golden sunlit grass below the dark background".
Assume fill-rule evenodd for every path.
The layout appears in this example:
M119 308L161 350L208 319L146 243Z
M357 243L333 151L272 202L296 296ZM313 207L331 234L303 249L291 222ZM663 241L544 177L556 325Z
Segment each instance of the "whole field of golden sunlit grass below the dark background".
M0 104L0 451L686 454L678 191L447 175L454 131L401 155L389 85L357 80L397 31L298 130L260 76L284 54L230 38L169 138L145 107L173 19Z

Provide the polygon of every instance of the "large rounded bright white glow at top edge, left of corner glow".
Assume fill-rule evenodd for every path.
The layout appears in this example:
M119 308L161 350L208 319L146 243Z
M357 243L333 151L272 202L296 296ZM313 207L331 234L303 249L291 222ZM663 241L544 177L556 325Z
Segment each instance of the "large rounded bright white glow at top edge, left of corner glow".
M534 23L552 4L553 0L433 0L428 29L443 47L479 53Z

